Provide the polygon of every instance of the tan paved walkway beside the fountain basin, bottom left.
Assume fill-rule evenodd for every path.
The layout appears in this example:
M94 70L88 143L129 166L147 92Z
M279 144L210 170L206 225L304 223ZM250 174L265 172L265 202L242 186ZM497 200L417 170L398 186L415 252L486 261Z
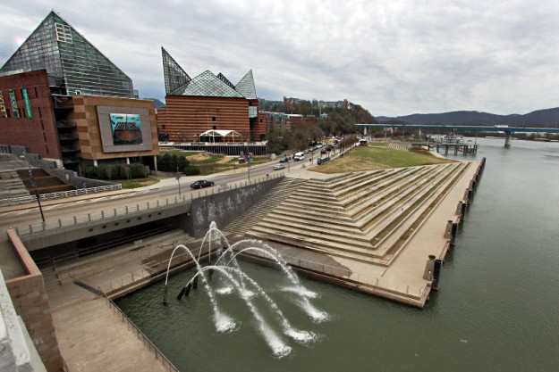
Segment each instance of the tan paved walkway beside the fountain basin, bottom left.
M173 370L104 297L74 284L48 297L58 346L69 371Z

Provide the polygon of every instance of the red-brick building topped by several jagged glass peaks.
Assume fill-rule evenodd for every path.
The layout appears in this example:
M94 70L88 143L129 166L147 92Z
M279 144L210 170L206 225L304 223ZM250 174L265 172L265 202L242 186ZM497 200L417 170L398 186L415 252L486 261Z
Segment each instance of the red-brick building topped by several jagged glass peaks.
M165 109L157 110L159 135L171 142L226 142L208 130L235 131L235 142L266 138L266 116L258 114L252 70L236 85L209 70L191 78L162 48L165 74Z

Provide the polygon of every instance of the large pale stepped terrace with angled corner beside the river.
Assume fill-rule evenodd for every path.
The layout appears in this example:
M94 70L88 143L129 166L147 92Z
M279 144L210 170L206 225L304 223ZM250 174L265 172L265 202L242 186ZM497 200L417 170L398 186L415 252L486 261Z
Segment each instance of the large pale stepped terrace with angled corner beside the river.
M311 179L257 224L247 223L246 235L385 266L469 166Z

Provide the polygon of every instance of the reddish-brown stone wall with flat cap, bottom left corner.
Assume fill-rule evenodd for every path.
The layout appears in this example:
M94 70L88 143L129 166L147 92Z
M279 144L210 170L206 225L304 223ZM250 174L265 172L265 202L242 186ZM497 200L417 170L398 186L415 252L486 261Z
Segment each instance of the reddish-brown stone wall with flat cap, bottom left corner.
M47 370L60 371L63 368L63 361L56 341L55 324L43 276L15 231L9 229L7 234L14 251L28 273L24 277L6 280L13 308L23 319Z

